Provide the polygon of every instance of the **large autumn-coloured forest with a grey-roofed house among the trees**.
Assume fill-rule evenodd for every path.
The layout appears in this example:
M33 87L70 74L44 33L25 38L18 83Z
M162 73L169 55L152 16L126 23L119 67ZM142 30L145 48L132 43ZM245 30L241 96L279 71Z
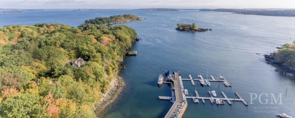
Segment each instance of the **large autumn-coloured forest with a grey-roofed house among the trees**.
M95 117L136 37L125 25L0 28L0 117Z

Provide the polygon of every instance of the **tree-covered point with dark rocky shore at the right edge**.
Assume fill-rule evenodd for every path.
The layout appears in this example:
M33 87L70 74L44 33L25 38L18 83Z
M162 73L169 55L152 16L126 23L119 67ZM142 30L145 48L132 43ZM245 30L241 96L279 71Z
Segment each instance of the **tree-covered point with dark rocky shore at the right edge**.
M268 64L295 72L295 41L282 45L282 48L264 57Z

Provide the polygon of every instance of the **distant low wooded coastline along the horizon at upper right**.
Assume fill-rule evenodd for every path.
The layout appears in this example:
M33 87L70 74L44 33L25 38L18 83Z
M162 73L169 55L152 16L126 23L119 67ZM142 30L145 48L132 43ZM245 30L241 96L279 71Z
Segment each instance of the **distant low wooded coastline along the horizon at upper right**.
M200 9L199 11L233 12L234 14L295 17L295 10Z

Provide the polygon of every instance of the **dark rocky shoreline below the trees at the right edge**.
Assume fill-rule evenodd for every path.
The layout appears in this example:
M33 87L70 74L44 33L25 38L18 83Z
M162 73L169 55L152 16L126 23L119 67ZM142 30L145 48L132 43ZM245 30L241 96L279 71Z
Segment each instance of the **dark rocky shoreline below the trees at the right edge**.
M290 66L284 65L281 62L276 61L275 58L274 58L275 55L273 53L270 53L269 55L263 55L263 56L264 56L264 60L265 60L265 62L267 64L273 65L275 67L279 67L279 68L281 68L283 70L295 72L294 67L290 67Z

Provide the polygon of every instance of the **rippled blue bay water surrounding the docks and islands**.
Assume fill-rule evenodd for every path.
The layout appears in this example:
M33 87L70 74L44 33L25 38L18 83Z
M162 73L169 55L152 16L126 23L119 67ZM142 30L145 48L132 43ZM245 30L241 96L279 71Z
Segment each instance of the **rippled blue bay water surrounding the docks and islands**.
M194 104L188 99L184 118L191 117L276 117L286 113L295 117L295 78L292 73L276 71L263 60L263 54L272 53L285 43L295 39L295 17L272 17L224 12L171 11L153 12L140 10L96 10L96 11L35 11L0 14L0 26L36 23L61 23L78 26L86 19L109 17L119 14L134 14L146 18L143 21L122 23L132 27L142 39L132 50L137 56L125 58L126 69L121 72L127 86L119 99L108 108L104 117L164 117L172 106L170 101L158 100L158 96L171 96L170 87L164 84L157 87L159 73L165 70L181 71L182 78L193 78L202 74L206 78L207 69L213 76L221 73L232 83L225 87L211 82L210 87L192 86L191 81L183 81L189 95L194 90L200 96L209 95L215 90L217 96L223 90L227 97L233 98L235 90L250 103L250 93L268 94L253 100L245 106L233 102L232 106ZM196 23L197 27L212 29L207 32L179 32L174 30L177 23ZM120 25L120 24L114 24ZM291 38L291 39L290 39ZM261 55L257 55L260 53ZM286 89L287 94L286 94ZM270 104L271 93L276 98L282 94L282 104ZM262 107L263 106L263 107Z

